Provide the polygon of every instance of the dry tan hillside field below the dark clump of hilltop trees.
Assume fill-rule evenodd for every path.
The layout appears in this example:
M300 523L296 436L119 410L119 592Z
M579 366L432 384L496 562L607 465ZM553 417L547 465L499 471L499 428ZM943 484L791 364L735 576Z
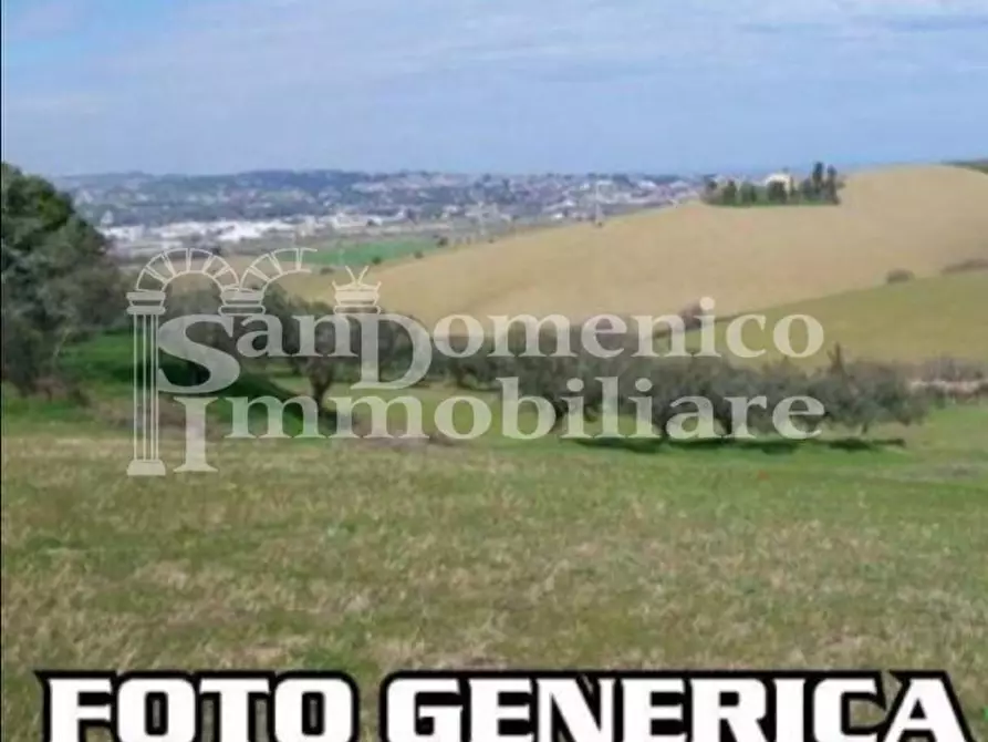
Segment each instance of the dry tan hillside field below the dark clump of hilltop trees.
M854 175L839 207L688 204L437 250L372 270L382 303L433 322L531 312L666 313L711 297L718 315L881 285L988 258L988 176L953 166ZM339 278L337 278L339 280ZM332 301L329 276L287 288Z

